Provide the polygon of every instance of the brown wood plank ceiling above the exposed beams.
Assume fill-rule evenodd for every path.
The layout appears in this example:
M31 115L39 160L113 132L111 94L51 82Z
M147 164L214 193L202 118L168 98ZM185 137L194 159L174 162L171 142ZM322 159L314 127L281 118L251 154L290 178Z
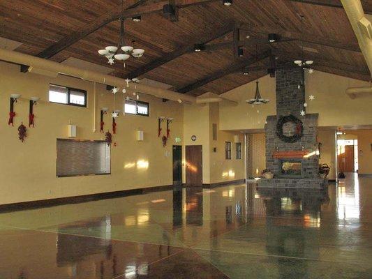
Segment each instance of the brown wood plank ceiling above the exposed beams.
M138 0L137 0L138 1ZM151 0L151 4L160 0ZM164 0L163 0L164 1ZM181 0L182 1L182 0ZM129 3L130 2L130 3ZM146 1L144 1L146 2ZM191 1L192 2L192 1ZM194 1L198 2L198 1ZM93 33L61 50L50 59L64 61L69 57L83 59L102 66L111 67L113 75L128 77L135 70L156 61L193 43L202 43L211 34L226 28L228 24L240 24L240 40L244 40L243 57L235 57L232 51L232 31L209 42L209 45L231 43L231 47L204 52L186 52L172 56L161 66L147 71L140 77L172 84L174 89L188 88L195 82L209 80L192 91L198 96L204 92L223 93L237 86L251 82L256 77L266 75L266 70L251 71L242 75L242 70L230 73L228 68L242 60L252 59L256 47L260 54L271 50L277 63L285 63L301 58L299 40L281 43L265 43L268 33L280 33L288 38L299 38L301 20L304 16L304 46L310 48L306 57L314 60L313 68L359 80L370 80L369 70L357 39L352 31L348 17L339 0L334 1L296 1L296 0L234 0L232 6L223 6L222 1L203 1L179 9L179 20L171 22L161 12L142 15L141 22L127 19L125 40L145 50L140 59L129 59L126 68L120 62L110 66L107 59L98 55L97 50L106 45L117 45L119 40L119 20L115 20ZM334 6L314 5L309 2L332 3ZM71 33L80 31L105 13L117 11L119 0L13 0L0 1L0 36L17 40L22 45L17 51L37 55ZM126 8L135 0L124 1ZM177 3L177 1L176 1ZM362 1L366 13L372 11L372 1ZM146 4L146 3L145 3ZM249 36L249 38L246 38ZM213 36L212 36L213 37ZM255 43L256 39L260 43ZM315 42L315 43L311 43ZM341 47L341 48L340 48ZM353 50L345 50L352 48ZM315 52L314 52L315 51ZM265 69L269 59L262 59L258 65ZM255 66L253 63L251 66ZM216 73L226 69L226 75L216 79Z

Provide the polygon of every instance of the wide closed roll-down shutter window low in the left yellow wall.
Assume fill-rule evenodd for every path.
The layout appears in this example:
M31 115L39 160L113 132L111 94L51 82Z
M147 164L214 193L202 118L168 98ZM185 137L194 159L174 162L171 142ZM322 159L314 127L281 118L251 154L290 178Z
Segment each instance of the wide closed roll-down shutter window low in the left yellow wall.
M110 174L110 156L105 141L57 139L57 176Z

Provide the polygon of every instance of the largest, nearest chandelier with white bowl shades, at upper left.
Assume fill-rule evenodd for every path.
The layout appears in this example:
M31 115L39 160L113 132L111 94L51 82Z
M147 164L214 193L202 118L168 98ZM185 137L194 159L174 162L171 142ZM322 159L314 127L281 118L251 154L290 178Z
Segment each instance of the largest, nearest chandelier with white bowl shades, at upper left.
M98 53L107 58L107 63L112 65L115 63L115 59L118 61L124 61L124 67L126 66L125 61L131 56L140 58L144 54L144 50L141 48L135 48L135 41L132 41L133 45L125 45L124 41L124 18L120 18L120 38L117 47L110 45L105 47L104 50L98 50Z

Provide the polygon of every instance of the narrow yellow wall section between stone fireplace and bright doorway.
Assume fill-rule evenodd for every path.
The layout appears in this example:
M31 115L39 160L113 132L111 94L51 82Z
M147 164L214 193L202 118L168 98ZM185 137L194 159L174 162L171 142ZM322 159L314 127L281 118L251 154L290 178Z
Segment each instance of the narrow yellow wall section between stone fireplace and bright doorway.
M320 164L329 165L328 179L336 179L336 130L318 130L318 142L320 147Z

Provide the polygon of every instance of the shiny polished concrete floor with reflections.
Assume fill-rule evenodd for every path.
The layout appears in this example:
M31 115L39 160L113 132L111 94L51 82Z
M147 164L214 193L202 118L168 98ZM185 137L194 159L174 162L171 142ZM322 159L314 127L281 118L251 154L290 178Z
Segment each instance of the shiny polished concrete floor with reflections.
M0 278L372 278L372 178L1 213Z

